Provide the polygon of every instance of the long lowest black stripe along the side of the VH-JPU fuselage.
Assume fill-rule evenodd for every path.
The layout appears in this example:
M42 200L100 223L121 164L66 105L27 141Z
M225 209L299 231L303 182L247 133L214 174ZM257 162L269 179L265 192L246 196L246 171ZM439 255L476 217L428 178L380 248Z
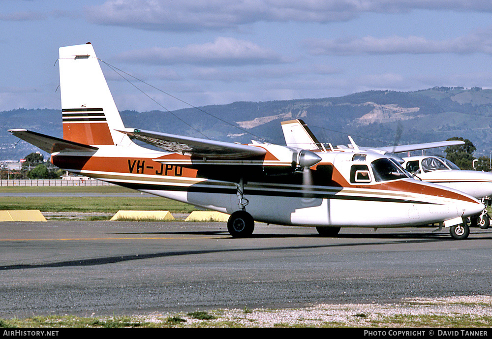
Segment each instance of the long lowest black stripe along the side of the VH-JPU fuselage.
M192 192L192 193L209 193L209 194L236 194L236 188L225 187L205 187L200 185L190 186L174 186L174 185L155 185L155 184L137 184L137 183L120 183L110 181L115 185L124 186L136 190L161 190L161 191L178 191L178 192ZM287 188L288 189L288 188ZM245 187L245 195L264 195L271 197L294 197L294 198L318 198L318 199L340 199L340 200L354 200L354 201L375 201L375 202L393 202L393 203L405 203L405 204L424 204L424 205L440 205L432 202L410 200L407 198L384 198L374 196L357 196L357 195L345 195L345 194L330 194L323 192L303 192L300 189L290 191L275 191L272 189L258 190Z

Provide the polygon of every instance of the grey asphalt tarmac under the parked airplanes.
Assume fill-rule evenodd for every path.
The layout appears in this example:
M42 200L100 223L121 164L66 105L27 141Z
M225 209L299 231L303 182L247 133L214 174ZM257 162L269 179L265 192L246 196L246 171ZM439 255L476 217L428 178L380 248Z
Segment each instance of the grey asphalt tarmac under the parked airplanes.
M0 223L0 317L123 315L490 295L492 230L225 223Z

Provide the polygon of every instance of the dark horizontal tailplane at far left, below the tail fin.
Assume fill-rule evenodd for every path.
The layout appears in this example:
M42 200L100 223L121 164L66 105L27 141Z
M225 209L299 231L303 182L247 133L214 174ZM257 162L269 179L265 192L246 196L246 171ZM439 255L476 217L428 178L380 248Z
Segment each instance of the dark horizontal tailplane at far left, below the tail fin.
M50 154L64 150L77 152L94 152L98 150L98 148L94 146L84 145L38 132L28 131L27 129L9 129L8 131L16 137L25 140Z

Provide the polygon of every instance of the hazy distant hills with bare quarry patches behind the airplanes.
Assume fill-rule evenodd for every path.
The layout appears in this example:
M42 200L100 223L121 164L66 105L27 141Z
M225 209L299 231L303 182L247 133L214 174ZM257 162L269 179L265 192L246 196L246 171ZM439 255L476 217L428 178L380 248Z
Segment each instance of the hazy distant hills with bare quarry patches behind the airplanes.
M126 127L215 140L248 143L264 139L284 143L280 122L303 119L321 142L388 146L446 140L473 142L476 156L492 146L492 90L435 87L415 92L368 91L342 97L266 102L234 102L173 112L121 112ZM36 148L14 144L9 128L27 128L62 137L60 110L18 109L0 112L0 158L21 158ZM225 123L228 122L228 123Z

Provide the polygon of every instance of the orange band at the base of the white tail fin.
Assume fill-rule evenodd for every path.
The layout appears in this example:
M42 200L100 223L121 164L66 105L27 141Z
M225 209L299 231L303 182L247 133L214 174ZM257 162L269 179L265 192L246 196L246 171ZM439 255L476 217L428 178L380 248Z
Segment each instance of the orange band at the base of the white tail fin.
M63 139L85 145L114 145L108 123L63 123Z

